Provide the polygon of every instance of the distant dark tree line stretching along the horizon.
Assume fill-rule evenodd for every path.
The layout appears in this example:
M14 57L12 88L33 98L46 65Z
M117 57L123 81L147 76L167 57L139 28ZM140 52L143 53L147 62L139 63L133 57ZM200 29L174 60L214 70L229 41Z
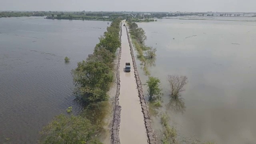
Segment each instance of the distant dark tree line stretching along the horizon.
M153 18L163 18L163 17L176 17L176 16L205 16L206 13L192 12L192 13L182 13L182 12L57 12L57 11L34 11L34 12L0 12L0 17L22 17L22 16L57 16L57 19L71 19L72 20L114 20L118 17L130 18L133 22L152 22ZM214 16L214 14L207 14L207 16ZM232 16L232 14L220 14L220 16ZM240 14L234 14L234 16L240 16ZM244 16L244 15L243 15Z

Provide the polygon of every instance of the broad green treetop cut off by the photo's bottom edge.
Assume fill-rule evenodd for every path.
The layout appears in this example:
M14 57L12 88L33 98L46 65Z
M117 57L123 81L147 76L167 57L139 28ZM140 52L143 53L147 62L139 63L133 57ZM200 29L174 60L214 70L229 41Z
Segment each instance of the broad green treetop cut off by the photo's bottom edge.
M40 132L40 144L102 144L95 136L96 126L82 116L60 114Z

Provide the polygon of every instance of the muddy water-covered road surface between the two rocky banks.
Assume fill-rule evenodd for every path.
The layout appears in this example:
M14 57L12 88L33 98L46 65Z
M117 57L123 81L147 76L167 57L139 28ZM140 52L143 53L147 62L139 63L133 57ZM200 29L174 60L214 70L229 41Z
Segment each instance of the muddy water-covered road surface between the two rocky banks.
M125 63L130 62L131 72L125 72ZM121 144L147 144L146 128L138 97L132 65L132 56L125 26L122 26L122 52L120 59L121 122L119 137Z

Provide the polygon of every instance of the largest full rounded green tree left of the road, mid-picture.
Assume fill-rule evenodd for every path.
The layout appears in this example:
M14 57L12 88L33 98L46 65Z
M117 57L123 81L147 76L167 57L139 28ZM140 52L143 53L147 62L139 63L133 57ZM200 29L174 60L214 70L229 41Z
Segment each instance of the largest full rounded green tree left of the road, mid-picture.
M72 70L75 94L85 102L99 102L107 100L106 92L114 74L109 66L94 57L78 62L78 67Z

